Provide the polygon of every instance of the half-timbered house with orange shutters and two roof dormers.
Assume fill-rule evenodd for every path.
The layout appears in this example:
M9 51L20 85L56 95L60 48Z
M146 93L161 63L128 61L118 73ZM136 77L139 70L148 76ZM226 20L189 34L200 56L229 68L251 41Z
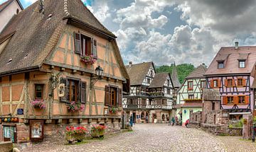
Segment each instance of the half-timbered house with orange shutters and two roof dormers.
M206 71L207 88L221 95L221 109L230 119L251 114L255 107L256 47L221 47Z

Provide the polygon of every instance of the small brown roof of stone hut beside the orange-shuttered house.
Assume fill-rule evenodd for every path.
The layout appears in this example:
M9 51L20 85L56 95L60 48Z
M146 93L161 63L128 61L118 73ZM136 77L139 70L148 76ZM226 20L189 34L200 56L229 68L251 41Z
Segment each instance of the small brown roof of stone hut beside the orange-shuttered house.
M203 88L203 100L220 101L220 93L213 88Z

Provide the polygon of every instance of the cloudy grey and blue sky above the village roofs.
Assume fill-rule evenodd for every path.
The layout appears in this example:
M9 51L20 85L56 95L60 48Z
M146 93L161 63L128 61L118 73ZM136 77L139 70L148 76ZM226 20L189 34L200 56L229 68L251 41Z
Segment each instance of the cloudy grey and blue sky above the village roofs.
M82 1L117 35L124 64L209 65L220 47L256 45L255 0Z

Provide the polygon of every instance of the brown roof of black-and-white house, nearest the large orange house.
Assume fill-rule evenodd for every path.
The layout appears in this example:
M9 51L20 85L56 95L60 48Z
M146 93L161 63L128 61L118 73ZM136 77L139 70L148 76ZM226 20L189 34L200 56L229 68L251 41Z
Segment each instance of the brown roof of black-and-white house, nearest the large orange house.
M127 69L131 85L142 85L151 66L154 67L153 62L126 65L125 67Z

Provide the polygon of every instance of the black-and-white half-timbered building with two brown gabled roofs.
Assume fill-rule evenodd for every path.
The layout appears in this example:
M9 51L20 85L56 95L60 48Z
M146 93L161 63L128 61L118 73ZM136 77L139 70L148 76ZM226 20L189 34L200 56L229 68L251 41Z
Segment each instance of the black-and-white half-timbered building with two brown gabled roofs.
M129 95L124 95L123 108L134 122L166 122L172 105L174 86L168 73L157 74L153 62L126 66L131 78Z

